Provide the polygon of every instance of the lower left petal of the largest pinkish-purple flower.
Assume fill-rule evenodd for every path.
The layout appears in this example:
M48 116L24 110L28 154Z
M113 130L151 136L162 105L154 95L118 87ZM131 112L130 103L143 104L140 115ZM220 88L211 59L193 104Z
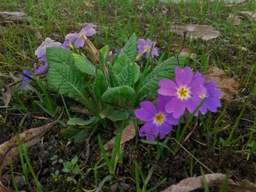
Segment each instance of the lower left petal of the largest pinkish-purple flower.
M165 110L168 113L173 113L173 118L180 118L186 110L186 105L181 99L173 97L167 102Z

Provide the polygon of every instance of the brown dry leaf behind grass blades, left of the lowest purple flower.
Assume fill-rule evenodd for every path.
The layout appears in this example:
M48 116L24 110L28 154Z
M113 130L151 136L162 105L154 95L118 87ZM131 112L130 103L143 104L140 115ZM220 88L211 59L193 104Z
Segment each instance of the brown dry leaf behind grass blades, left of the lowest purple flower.
M135 123L131 123L122 131L121 144L123 144L124 142L128 142L130 139L133 139L134 137L135 137ZM107 142L103 146L105 150L110 150L113 148L115 138L116 137L113 137L109 142Z

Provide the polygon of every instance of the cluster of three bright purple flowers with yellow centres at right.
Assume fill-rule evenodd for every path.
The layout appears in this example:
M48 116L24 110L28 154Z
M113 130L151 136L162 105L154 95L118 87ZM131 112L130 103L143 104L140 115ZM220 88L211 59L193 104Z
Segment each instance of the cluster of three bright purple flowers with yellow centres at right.
M164 79L158 85L158 110L149 101L141 102L141 108L135 110L135 116L147 122L140 128L140 137L154 140L159 135L162 139L186 109L197 116L199 112L206 114L207 110L217 112L217 107L221 107L221 92L216 82L206 82L203 74L193 74L188 66L176 67L176 82Z

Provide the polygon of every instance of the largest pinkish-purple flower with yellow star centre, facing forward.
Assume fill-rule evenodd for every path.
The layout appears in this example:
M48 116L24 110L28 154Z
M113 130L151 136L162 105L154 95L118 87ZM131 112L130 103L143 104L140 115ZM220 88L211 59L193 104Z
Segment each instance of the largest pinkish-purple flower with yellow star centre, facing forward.
M176 82L172 80L160 80L158 82L158 93L163 96L170 96L165 110L173 113L173 118L180 118L186 108L189 112L194 112L203 101L201 95L206 95L206 88L201 77L193 75L192 69L186 66L183 70L176 67ZM198 110L195 116L198 115Z

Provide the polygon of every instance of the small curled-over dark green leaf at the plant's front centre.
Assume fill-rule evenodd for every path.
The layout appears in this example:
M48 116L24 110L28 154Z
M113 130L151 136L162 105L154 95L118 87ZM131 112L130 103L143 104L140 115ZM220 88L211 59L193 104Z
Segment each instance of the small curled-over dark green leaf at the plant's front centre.
M108 104L116 104L119 106L133 106L135 99L135 91L128 85L109 88L102 94L102 101Z

